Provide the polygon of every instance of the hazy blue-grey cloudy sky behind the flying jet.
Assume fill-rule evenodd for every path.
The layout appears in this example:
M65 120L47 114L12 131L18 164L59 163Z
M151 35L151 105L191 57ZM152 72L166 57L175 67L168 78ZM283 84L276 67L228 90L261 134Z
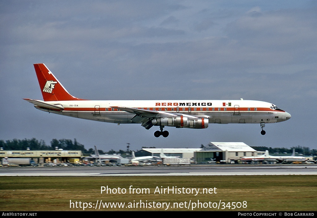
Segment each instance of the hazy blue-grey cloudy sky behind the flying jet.
M74 139L88 149L212 142L317 149L317 1L0 1L0 139ZM116 125L36 110L34 63L82 99L252 99L286 122L204 130Z

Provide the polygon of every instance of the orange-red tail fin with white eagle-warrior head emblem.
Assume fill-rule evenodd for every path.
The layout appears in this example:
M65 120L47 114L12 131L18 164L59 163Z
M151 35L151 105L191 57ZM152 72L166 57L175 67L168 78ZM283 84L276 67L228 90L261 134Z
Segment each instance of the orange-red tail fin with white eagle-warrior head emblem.
M67 92L45 64L34 64L44 101L84 100Z

